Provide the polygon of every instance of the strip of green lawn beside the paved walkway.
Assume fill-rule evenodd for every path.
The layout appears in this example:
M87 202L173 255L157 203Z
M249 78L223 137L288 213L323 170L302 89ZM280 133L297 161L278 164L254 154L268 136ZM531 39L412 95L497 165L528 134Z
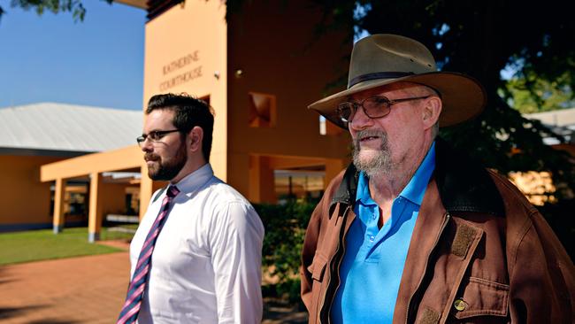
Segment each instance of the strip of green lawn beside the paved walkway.
M102 228L103 239L125 238ZM65 228L58 235L51 229L0 234L0 266L54 258L71 258L121 251L88 243L88 228Z

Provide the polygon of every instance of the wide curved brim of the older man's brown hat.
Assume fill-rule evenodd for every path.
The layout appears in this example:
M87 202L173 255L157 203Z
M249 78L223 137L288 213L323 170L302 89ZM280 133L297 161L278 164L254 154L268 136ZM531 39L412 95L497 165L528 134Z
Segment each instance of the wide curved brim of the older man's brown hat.
M326 120L348 129L335 112L338 104L349 100L349 96L387 84L404 81L425 85L441 94L443 107L440 115L440 127L449 127L465 120L471 120L483 111L487 104L487 94L476 79L462 73L430 72L414 74L397 79L372 80L357 83L355 86L327 96L310 104L308 109L319 112Z

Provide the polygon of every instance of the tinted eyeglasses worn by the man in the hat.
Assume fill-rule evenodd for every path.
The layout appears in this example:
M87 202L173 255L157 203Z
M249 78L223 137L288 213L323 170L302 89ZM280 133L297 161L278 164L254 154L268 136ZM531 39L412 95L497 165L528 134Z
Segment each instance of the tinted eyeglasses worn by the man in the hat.
M426 99L430 96L414 96L410 98L403 98L403 99L395 99L391 100L388 99L386 96L371 96L369 98L364 99L361 103L351 103L345 102L338 105L335 112L337 112L338 116L343 122L351 122L353 120L354 115L357 112L359 107L364 109L364 113L367 117L372 119L386 117L389 112L391 112L391 105L392 104L399 104L405 101L410 100L418 100L418 99Z

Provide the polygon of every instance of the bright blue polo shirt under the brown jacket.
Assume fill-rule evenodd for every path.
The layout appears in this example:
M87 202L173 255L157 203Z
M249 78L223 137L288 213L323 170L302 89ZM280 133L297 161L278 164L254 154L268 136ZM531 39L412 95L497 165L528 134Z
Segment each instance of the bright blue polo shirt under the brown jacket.
M340 287L331 318L341 323L391 323L411 234L427 183L435 168L435 143L410 182L391 207L391 217L380 229L380 208L372 200L368 178L357 183L354 212L341 261Z

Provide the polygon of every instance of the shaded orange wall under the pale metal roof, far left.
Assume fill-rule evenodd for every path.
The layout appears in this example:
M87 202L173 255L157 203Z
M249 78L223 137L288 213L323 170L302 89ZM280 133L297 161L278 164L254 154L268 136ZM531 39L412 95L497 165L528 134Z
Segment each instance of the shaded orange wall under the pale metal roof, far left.
M1 156L0 225L50 223L50 185L40 166L62 158Z

